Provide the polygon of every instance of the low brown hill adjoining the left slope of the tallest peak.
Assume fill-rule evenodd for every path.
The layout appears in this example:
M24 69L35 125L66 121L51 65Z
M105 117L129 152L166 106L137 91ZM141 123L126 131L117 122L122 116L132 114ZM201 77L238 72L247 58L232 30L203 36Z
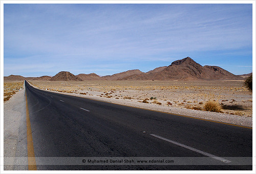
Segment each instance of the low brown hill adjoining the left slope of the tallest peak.
M117 74L113 74L111 76L103 76L102 79L105 80L123 80L126 77L132 76L132 75L140 75L143 74L140 70L129 70Z

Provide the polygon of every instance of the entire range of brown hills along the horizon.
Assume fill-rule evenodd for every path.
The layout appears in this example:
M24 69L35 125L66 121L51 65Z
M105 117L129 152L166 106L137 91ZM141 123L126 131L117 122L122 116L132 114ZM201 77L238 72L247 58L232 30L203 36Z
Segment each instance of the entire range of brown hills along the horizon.
M251 73L250 73L251 74ZM201 66L190 57L173 61L169 66L158 67L146 73L140 70L129 70L113 75L98 76L95 73L74 75L61 71L53 77L23 77L10 75L5 81L20 80L51 80L51 81L81 81L81 80L240 80L250 74L234 75L217 66Z

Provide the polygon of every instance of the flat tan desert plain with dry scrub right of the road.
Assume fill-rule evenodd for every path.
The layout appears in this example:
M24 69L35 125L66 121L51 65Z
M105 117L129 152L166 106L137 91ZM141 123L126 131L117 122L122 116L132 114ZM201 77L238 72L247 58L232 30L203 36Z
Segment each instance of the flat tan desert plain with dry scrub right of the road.
M220 104L222 114L252 117L252 92L243 80L211 81L29 81L39 89L114 103L144 103L172 108L202 110L207 101ZM149 107L149 108L151 108ZM148 108L148 107L147 107Z

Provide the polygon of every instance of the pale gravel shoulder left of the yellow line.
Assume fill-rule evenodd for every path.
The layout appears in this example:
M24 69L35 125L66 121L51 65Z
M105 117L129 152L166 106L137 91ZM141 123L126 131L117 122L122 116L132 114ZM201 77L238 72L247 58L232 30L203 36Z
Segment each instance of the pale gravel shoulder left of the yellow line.
M25 89L20 90L4 103L4 170L26 170L26 166L13 165L27 158ZM7 158L12 157L12 158ZM25 162L26 163L26 162Z

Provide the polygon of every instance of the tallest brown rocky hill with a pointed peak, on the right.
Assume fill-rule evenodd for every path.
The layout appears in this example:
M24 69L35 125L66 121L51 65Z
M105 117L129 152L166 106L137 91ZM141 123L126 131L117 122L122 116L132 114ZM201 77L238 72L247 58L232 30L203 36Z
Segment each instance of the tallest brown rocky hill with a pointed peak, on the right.
M159 67L147 73L134 74L121 80L224 80L242 79L220 67L204 66L190 57L172 62L168 67Z

